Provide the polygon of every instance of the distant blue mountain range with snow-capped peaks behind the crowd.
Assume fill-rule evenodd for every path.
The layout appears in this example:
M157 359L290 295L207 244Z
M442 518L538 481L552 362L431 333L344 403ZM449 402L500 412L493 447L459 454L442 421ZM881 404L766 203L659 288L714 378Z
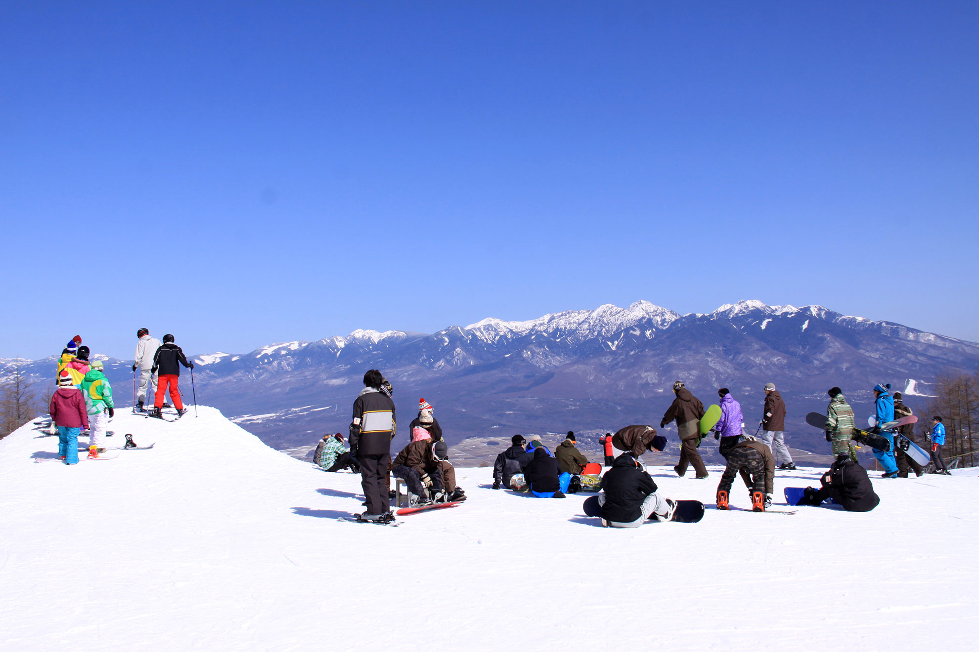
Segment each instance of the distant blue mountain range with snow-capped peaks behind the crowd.
M856 406L869 401L876 382L927 394L939 371L979 367L979 344L822 306L751 300L679 315L638 301L526 322L489 318L431 334L358 329L194 360L198 397L276 448L346 431L371 368L393 382L401 422L425 397L450 442L657 425L673 381L682 379L705 405L716 401L718 387L730 388L749 420L761 411L763 385L774 382L798 423L795 445L819 448L818 433L801 424L823 407L829 387L842 387ZM47 376L50 364L31 367ZM126 363L107 367L131 381Z

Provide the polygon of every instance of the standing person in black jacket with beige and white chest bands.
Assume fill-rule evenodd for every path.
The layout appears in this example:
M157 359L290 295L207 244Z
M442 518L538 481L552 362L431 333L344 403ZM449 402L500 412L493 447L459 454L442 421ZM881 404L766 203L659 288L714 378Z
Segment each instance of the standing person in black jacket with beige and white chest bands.
M364 373L364 388L353 401L350 456L360 464L360 486L367 503L367 511L358 518L390 523L395 520L395 515L391 513L388 496L388 467L396 421L395 402L382 389L385 384L379 370L369 369Z

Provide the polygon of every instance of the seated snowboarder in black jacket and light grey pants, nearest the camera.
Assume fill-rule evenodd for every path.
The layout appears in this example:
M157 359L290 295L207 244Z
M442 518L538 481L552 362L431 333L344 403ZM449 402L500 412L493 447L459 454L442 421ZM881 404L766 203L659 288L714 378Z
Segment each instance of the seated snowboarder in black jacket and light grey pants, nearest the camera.
M657 450L665 446L666 437L658 436ZM656 483L631 453L616 457L605 472L598 503L602 506L602 525L612 528L637 528L650 516L669 521L676 509L675 500L656 493Z

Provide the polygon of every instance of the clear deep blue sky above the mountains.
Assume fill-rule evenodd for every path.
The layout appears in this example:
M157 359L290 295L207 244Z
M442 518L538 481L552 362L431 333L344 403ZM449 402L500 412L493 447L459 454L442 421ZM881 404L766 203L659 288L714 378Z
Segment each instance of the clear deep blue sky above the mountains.
M977 28L970 2L6 3L0 357L637 299L979 340Z

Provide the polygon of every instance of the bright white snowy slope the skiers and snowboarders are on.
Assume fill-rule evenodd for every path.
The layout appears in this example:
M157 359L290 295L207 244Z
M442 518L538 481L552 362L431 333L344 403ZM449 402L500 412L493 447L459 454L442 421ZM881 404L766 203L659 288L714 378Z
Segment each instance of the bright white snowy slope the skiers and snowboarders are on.
M156 448L70 467L32 463L57 440L30 427L0 441L5 650L964 650L979 625L975 477L875 480L868 514L710 509L622 531L583 496L460 469L466 504L382 528L336 520L360 509L357 477L210 408L120 410L109 441ZM651 467L664 494L712 500L717 468L667 469ZM776 494L815 478L780 475Z

